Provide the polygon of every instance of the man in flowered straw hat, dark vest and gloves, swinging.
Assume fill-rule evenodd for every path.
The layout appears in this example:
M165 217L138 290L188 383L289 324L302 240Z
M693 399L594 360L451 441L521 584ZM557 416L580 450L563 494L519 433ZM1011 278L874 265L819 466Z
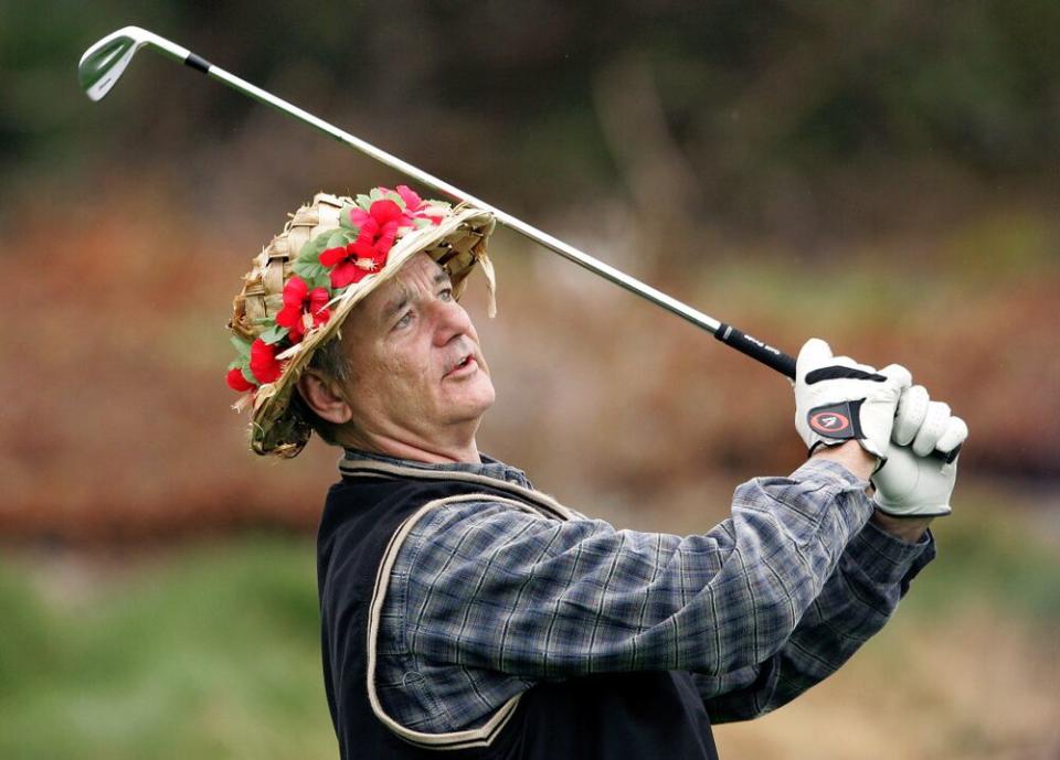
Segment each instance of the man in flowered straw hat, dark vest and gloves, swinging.
M492 291L491 229L404 186L318 195L236 299L252 448L346 450L318 538L341 754L717 757L711 721L783 705L884 624L950 511L931 454L967 428L904 368L809 341L795 473L701 535L589 520L478 451L494 386L457 297L476 265Z

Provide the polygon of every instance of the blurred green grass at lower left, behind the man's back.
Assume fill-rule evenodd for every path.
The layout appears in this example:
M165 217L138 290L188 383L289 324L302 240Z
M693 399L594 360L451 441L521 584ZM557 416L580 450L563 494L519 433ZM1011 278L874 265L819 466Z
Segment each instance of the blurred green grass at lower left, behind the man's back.
M97 591L50 603L0 566L0 757L335 754L306 540L167 553Z

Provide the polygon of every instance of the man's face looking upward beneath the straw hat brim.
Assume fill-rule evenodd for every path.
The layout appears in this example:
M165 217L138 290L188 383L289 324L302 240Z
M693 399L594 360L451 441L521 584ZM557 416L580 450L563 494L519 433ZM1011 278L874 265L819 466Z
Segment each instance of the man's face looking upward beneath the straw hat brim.
M342 325L343 388L358 428L430 448L470 426L495 399L489 368L449 278L417 254Z

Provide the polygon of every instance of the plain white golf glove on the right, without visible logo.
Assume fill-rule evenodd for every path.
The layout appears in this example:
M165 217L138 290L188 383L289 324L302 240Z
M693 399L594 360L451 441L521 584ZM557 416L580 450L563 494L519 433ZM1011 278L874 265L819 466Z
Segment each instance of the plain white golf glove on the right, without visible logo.
M950 514L957 461L947 463L945 454L967 437L968 426L946 404L930 400L922 385L908 388L898 403L887 462L872 475L877 509L895 517Z

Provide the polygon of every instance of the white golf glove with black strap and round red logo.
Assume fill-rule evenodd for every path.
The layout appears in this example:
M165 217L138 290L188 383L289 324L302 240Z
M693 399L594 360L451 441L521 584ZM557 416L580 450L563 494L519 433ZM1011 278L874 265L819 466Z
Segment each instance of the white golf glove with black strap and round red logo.
M795 363L795 429L806 448L857 440L886 458L909 370L891 364L879 372L849 356L833 356L824 341L806 341Z

